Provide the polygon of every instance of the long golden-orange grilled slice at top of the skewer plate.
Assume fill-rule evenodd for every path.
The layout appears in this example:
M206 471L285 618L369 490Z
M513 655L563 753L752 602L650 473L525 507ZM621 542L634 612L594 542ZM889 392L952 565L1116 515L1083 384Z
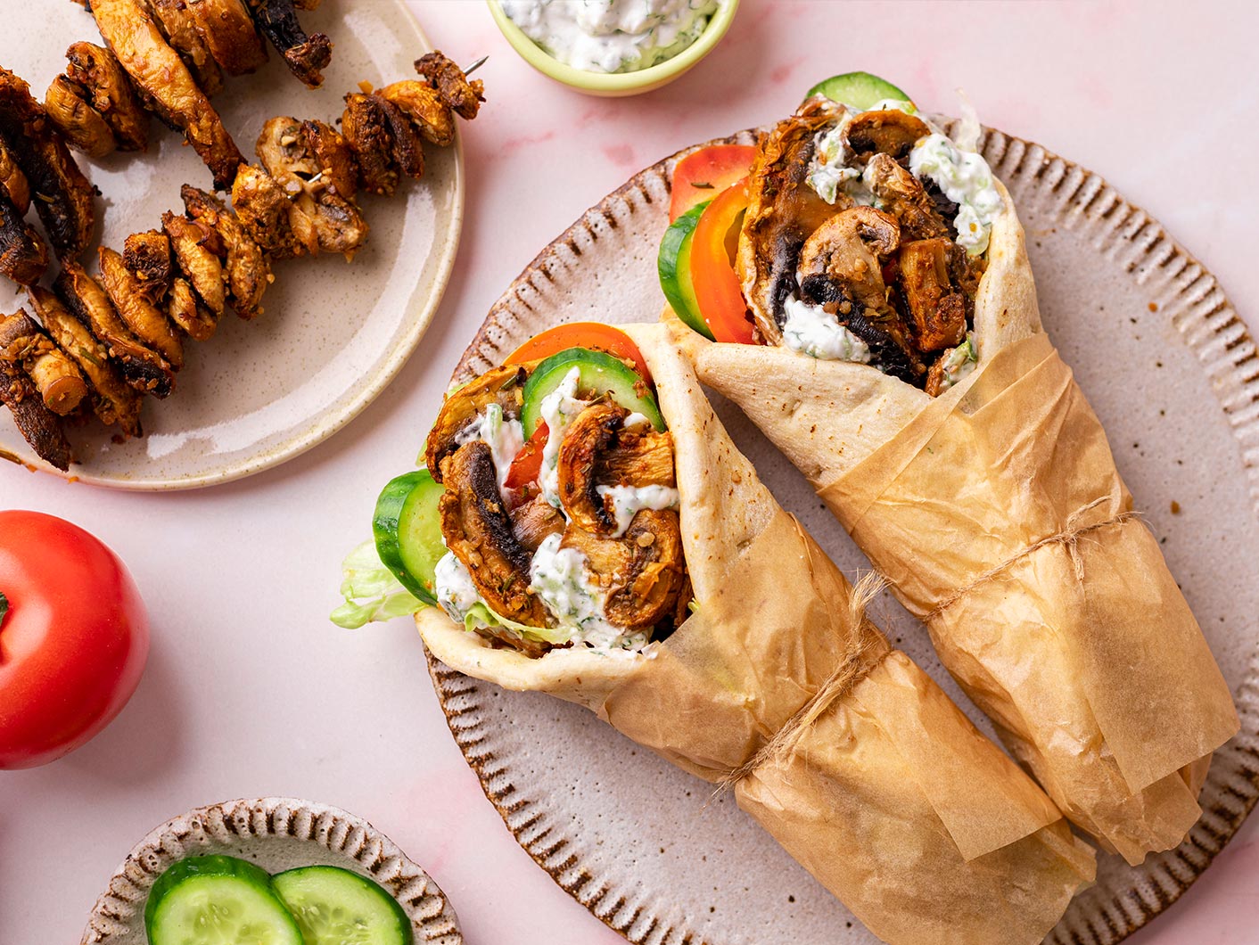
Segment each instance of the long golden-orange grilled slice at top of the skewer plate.
M210 99L162 36L142 0L93 0L92 15L106 45L162 120L188 137L214 175L214 186L232 186L244 161Z

